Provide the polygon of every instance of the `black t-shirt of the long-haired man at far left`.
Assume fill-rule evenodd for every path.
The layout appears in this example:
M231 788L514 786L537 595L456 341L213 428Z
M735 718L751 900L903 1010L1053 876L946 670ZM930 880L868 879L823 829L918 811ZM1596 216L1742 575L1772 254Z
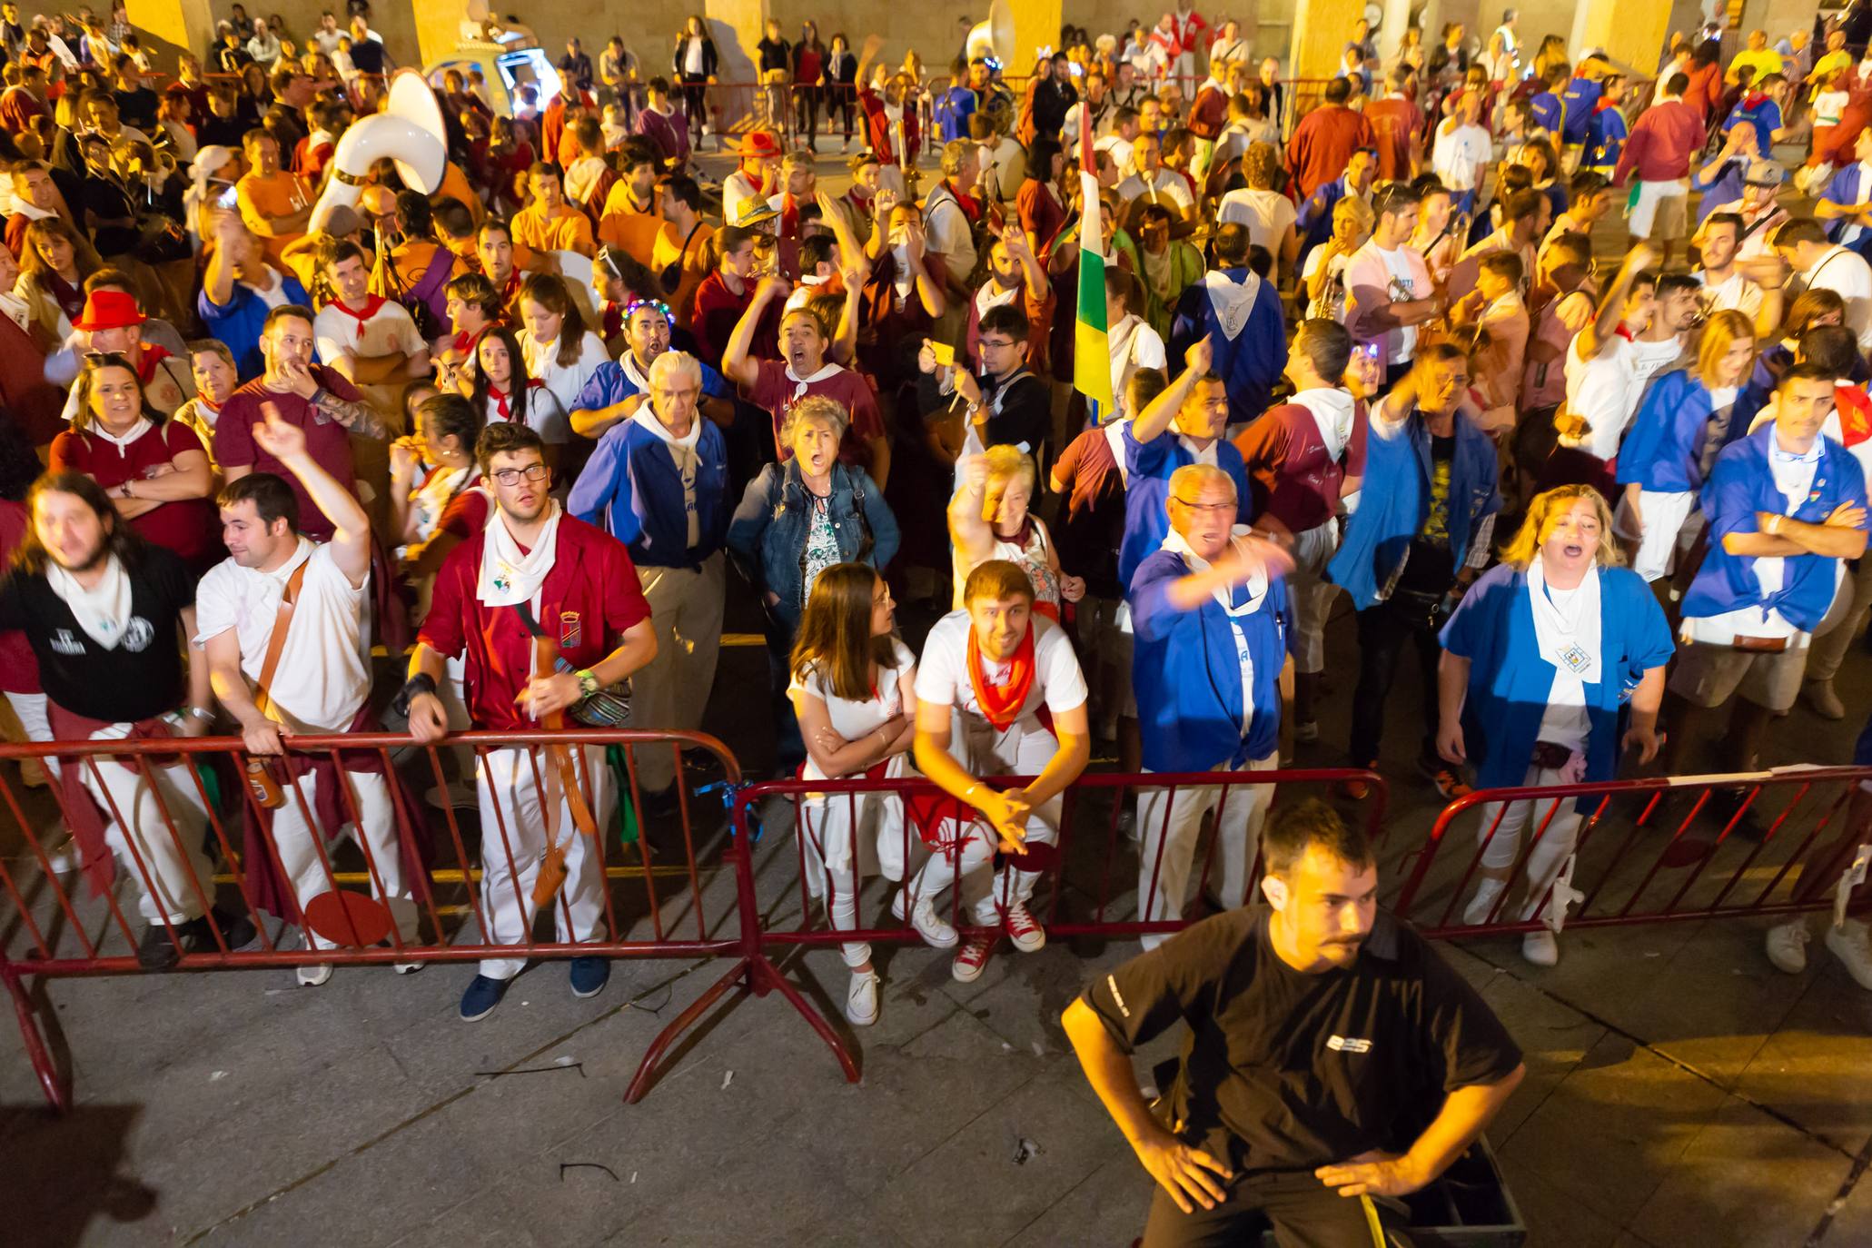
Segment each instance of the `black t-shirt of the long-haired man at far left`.
M182 705L187 685L176 621L195 606L195 578L163 546L144 546L129 569L131 623L112 649L79 627L45 576L0 580L0 629L22 629L39 683L58 705L107 724L152 718Z

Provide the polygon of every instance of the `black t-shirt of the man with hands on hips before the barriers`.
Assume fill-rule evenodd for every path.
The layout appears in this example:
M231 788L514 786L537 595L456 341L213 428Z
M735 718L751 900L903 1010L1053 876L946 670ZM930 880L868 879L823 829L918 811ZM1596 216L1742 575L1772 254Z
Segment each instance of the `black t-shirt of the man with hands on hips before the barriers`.
M1269 915L1204 919L1082 995L1127 1052L1189 1023L1170 1100L1185 1141L1236 1171L1400 1151L1447 1093L1520 1065L1475 990L1393 915L1378 913L1350 967L1320 975L1280 960Z

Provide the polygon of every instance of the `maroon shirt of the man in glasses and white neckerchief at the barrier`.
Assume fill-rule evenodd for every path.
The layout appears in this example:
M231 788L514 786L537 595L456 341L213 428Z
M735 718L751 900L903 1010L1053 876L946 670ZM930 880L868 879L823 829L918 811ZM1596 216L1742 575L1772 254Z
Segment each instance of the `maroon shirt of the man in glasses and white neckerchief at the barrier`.
M485 543L487 533L475 533L442 561L417 640L440 655L466 655L468 715L475 728L534 732L539 724L513 702L532 675L534 638L517 608L489 606L475 597ZM537 619L573 668L601 662L625 629L650 619L623 543L560 516L558 552L539 586Z

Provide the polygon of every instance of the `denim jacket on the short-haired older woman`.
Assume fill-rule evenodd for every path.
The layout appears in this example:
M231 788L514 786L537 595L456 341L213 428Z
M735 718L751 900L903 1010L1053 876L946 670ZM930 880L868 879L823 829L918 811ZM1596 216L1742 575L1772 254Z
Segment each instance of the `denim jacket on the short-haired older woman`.
M833 464L827 498L839 558L882 569L897 554L897 516L863 468ZM799 477L797 460L768 464L747 483L741 505L728 522L728 552L736 567L762 593L779 595L769 614L788 627L805 608L801 589L807 578L807 537L812 531L812 501Z

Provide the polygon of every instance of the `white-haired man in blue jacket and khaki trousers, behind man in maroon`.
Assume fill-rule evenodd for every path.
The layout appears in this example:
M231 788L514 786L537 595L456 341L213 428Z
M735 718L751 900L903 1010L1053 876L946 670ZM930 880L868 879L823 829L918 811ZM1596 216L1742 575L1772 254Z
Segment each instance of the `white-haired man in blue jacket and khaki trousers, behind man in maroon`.
M728 445L700 399L702 361L657 356L650 402L599 438L565 501L629 546L650 602L657 657L631 679L633 728L695 730L715 685L734 500ZM636 778L651 810L672 805L674 752L638 748Z

